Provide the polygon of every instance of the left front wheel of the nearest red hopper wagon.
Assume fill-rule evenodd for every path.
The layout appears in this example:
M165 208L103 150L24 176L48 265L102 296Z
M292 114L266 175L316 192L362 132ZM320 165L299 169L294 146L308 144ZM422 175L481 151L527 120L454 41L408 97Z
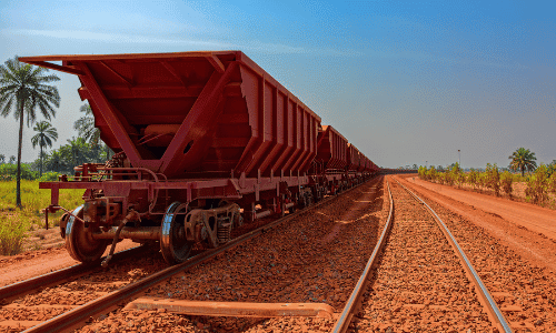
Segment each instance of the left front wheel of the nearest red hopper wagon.
M73 210L73 214L83 218L83 205ZM80 262L95 262L102 256L109 241L95 240L91 231L71 215L66 225L66 249L71 258Z

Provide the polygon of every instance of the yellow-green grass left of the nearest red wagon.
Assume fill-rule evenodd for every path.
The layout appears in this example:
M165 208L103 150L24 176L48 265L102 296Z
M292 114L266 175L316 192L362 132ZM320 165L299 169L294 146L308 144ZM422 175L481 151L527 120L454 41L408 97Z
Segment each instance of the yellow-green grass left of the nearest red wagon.
M82 203L83 190L60 190L59 204L72 210ZM0 182L0 251L3 255L21 252L27 232L46 226L42 210L50 204L50 190L39 190L39 181L21 181L21 203L16 206L16 181ZM58 225L62 211L49 214L50 226Z

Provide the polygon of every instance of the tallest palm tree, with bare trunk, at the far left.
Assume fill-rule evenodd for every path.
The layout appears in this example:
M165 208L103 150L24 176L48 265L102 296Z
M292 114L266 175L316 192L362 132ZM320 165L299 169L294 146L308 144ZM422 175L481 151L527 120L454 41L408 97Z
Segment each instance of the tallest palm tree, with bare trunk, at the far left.
M18 57L0 65L0 114L8 117L13 107L13 115L19 120L18 173L16 176L16 204L21 208L21 148L23 141L23 118L29 127L37 119L37 109L47 119L56 115L52 104L60 107L58 89L48 83L60 80L54 74L46 74L47 69L23 64Z

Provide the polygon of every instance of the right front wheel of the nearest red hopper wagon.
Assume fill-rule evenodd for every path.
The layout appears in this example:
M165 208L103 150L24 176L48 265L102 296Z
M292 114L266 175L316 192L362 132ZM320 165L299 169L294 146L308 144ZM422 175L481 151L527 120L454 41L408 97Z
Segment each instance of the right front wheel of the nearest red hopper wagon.
M171 265L186 261L193 248L193 242L188 241L186 236L185 213L188 212L188 208L185 203L173 202L166 210L162 220L160 250L166 262Z

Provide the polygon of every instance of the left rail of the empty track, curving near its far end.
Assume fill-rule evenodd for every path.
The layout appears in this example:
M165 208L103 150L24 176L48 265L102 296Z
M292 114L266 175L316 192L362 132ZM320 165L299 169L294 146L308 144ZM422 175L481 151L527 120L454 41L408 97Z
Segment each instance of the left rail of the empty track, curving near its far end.
M359 281L354 287L354 291L351 292L351 295L349 296L346 305L344 306L344 310L341 311L340 316L336 321L336 324L332 329L331 332L334 333L340 333L340 332L347 332L349 327L349 323L351 322L351 319L354 317L354 312L357 309L357 305L359 304L359 300L363 295L363 292L365 291L365 285L366 282L369 278L369 274L373 270L373 268L377 264L378 262L378 256L380 252L384 249L384 245L386 244L386 239L388 238L388 234L391 229L391 218L394 213L394 200L391 198L391 192L390 192L390 183L388 180L386 180L386 184L388 188L388 196L390 199L390 212L388 213L388 219L386 220L386 225L383 229L383 233L380 234L380 239L378 240L378 243L375 246L375 250L373 250L373 254L370 255L367 265L365 266L365 270L363 271L361 276L359 278Z

